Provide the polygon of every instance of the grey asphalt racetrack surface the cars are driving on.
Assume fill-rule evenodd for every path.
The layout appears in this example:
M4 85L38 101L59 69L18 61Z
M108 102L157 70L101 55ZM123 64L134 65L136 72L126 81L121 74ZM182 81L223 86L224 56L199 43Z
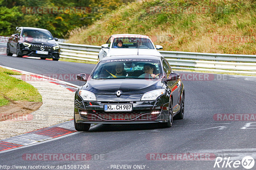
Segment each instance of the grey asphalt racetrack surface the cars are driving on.
M0 55L0 65L36 74L90 74L95 66L6 55ZM157 124L99 124L89 132L75 132L41 144L0 152L1 165L89 165L90 169L114 169L113 165L145 165L145 169L150 170L219 169L213 168L215 160L148 160L146 155L150 153L211 153L216 157L230 157L230 160L241 161L244 156L251 156L255 160L256 126L252 126L256 125L255 119L217 121L214 115L255 114L256 77L209 74L210 77L214 75L213 80L190 80L191 76L196 77L198 73L178 73L185 77L185 117L183 120L174 120L171 128L159 129ZM69 82L83 84L82 81ZM70 110L70 114L73 114L73 110ZM92 159L22 158L27 153L88 153ZM99 160L100 154L102 157ZM228 169L243 169L243 166Z

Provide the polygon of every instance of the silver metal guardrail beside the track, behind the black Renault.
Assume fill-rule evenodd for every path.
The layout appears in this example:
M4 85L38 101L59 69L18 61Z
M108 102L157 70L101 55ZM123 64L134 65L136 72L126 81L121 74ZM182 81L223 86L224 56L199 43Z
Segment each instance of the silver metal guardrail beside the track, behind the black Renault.
M60 44L60 56L75 60L97 61L100 46ZM256 55L159 51L174 69L212 73L256 75Z

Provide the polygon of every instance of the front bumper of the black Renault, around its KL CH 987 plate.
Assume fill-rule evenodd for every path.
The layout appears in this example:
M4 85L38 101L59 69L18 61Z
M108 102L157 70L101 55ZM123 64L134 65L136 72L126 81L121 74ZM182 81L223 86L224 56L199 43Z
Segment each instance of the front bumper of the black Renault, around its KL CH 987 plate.
M142 96L142 95L141 95ZM141 97L140 96L140 97ZM115 95L113 95L115 97ZM132 104L132 111L105 112L104 104ZM168 121L169 97L160 96L156 101L82 101L75 95L76 123L134 124ZM86 114L84 114L86 112ZM152 114L152 112L155 112ZM158 112L158 113L157 113Z

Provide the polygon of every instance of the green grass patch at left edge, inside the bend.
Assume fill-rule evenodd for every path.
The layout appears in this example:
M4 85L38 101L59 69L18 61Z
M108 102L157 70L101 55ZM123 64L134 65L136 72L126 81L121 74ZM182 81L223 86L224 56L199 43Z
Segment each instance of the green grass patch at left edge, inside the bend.
M36 88L25 81L10 75L22 75L19 72L0 68L0 106L7 105L10 100L42 102L42 96Z

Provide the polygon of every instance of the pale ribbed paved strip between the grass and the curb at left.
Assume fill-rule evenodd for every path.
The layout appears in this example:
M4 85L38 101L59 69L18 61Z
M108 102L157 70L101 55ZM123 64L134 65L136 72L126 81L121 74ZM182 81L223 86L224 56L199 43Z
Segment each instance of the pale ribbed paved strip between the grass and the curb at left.
M22 75L14 75L21 78ZM26 115L0 122L0 139L59 124L74 118L74 92L51 81L26 81L42 96L42 106Z

